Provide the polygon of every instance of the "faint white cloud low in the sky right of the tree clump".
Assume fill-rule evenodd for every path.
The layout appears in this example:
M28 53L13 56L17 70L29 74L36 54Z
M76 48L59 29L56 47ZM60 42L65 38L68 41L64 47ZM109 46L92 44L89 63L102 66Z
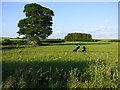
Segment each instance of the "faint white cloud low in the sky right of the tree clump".
M99 25L96 27L90 27L87 29L88 33L91 33L94 38L117 38L118 29L116 27Z

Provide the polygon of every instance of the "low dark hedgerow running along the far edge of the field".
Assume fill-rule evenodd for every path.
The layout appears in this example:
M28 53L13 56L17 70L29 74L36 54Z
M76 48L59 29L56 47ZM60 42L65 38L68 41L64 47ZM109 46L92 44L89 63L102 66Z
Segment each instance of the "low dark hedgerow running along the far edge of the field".
M68 34L70 35L70 34ZM88 34L89 36L90 34ZM90 35L91 36L91 35ZM89 37L90 37L89 36ZM65 41L79 41L79 42L99 42L102 40L98 40L98 39L92 39L91 38L87 38L87 39L67 39L67 36L65 37L65 39L44 39L41 40L42 44L50 44L50 43L64 43ZM104 41L103 41L104 42ZM107 40L107 42L120 42L120 39L111 39L111 40ZM30 41L27 39L22 39L22 38L4 38L3 40L0 41L0 45L31 45Z

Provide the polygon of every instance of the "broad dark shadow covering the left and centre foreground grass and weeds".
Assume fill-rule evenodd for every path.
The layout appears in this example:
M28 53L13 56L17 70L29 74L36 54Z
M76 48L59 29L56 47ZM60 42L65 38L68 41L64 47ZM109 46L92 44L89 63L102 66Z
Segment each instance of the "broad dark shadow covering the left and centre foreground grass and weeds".
M32 88L32 87L37 87L37 88L64 87L66 88L67 87L66 83L67 83L68 77L70 77L71 70L74 70L74 69L79 70L80 74L77 75L77 77L79 77L89 68L91 62L93 61L81 60L79 62L77 61L3 62L2 78L3 78L4 85L7 85L8 81L10 81L7 79L10 79L10 77L12 77L11 82L14 81L15 83L21 82L20 78L22 78L22 80L25 81L24 83L25 85L23 86L28 88ZM16 85L15 83L13 83L12 85ZM10 86L10 85L7 85L7 86ZM18 87L19 83L16 86Z

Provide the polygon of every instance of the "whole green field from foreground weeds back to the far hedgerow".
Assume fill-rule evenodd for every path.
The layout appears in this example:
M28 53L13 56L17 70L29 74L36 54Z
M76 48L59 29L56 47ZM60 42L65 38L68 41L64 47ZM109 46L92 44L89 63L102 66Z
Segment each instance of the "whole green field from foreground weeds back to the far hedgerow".
M36 46L2 50L3 89L117 88L118 43ZM83 45L86 52L82 52Z

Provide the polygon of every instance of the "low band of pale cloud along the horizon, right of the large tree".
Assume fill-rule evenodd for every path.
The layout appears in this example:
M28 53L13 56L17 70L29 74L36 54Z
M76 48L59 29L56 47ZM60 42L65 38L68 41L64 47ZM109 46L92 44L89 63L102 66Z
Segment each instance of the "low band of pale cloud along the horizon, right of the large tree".
M66 30L54 30L52 35L49 38L64 38L68 33L81 32L89 33L93 38L117 38L118 37L118 28L107 26L107 25L98 25L88 28L72 28L71 31Z

